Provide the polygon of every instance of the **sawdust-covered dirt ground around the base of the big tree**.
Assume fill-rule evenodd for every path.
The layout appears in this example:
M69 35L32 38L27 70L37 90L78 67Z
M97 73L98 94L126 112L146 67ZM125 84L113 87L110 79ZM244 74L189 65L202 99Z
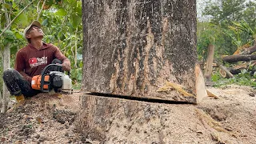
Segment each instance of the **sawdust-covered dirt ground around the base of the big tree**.
M117 131L113 125L106 143L123 143L114 137L133 140L128 143L154 143L142 142L138 137L161 139L155 143L256 143L256 90L234 85L207 90L218 98L207 97L198 105L154 104L163 110L161 117L166 119L158 135L154 130L152 134L138 133L143 126L136 130L131 127L129 134L123 135L125 129L119 127ZM76 130L81 95L38 94L0 114L0 143L102 143ZM150 122L154 126L155 121ZM168 130L172 133L167 134Z

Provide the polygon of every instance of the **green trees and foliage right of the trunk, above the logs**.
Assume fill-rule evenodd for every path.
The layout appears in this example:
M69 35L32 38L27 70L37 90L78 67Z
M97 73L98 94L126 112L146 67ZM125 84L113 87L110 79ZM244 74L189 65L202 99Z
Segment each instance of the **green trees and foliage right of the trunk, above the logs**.
M208 26L202 32L205 34L198 35L199 57L204 57L201 55L201 49L202 47L206 49L207 38L213 32L215 34L215 50L217 51L215 58L219 58L220 55L234 54L238 47L246 44L254 44L256 2L246 2L245 0L217 0L212 2L209 0L206 2L206 8L202 13L210 16L210 22L204 22Z

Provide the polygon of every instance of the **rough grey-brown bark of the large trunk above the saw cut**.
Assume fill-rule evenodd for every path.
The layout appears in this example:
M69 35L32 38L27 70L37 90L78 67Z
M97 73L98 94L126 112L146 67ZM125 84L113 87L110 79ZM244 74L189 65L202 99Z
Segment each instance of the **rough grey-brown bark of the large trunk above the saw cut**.
M163 97L165 82L194 90L194 2L83 2L83 90Z

